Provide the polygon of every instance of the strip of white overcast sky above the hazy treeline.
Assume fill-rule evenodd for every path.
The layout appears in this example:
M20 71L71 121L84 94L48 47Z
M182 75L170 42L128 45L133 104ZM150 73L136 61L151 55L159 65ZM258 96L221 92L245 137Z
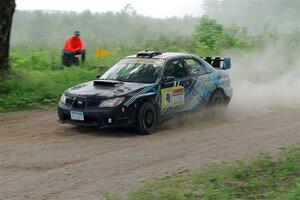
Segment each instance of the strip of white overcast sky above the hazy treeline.
M172 17L201 14L202 0L16 0L18 10L120 11L131 4L139 14Z

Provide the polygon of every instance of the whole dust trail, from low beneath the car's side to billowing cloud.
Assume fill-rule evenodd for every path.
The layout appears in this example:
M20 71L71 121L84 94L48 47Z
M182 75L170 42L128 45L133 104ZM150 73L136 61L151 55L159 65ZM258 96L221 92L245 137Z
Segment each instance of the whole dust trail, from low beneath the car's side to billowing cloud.
M291 52L288 47L279 41L256 52L224 52L231 57L228 73L233 88L226 113L184 113L167 121L162 129L202 130L248 117L269 116L270 112L300 109L299 52Z

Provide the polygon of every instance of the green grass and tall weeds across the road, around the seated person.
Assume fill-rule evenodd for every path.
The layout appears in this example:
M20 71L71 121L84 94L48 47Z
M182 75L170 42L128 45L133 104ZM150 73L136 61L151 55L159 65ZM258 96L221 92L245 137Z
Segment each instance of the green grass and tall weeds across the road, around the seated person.
M23 49L27 49L24 51ZM0 80L0 112L53 107L67 88L95 79L135 48L120 46L101 59L92 51L84 65L61 65L61 50L47 47L14 47L10 74Z

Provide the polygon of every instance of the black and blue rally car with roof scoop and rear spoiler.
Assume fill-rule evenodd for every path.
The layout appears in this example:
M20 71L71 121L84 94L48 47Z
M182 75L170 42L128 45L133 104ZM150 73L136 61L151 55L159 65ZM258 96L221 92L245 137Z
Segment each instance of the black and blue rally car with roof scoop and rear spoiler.
M232 97L230 58L143 51L102 76L66 90L58 121L98 128L133 126L141 134L176 113L226 106Z

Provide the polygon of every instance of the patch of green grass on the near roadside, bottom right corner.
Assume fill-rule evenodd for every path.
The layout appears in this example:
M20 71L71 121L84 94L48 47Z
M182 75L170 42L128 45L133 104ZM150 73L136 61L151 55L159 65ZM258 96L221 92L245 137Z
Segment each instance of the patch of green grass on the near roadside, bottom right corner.
M106 199L122 199L105 194ZM300 199L300 146L145 183L126 200Z

